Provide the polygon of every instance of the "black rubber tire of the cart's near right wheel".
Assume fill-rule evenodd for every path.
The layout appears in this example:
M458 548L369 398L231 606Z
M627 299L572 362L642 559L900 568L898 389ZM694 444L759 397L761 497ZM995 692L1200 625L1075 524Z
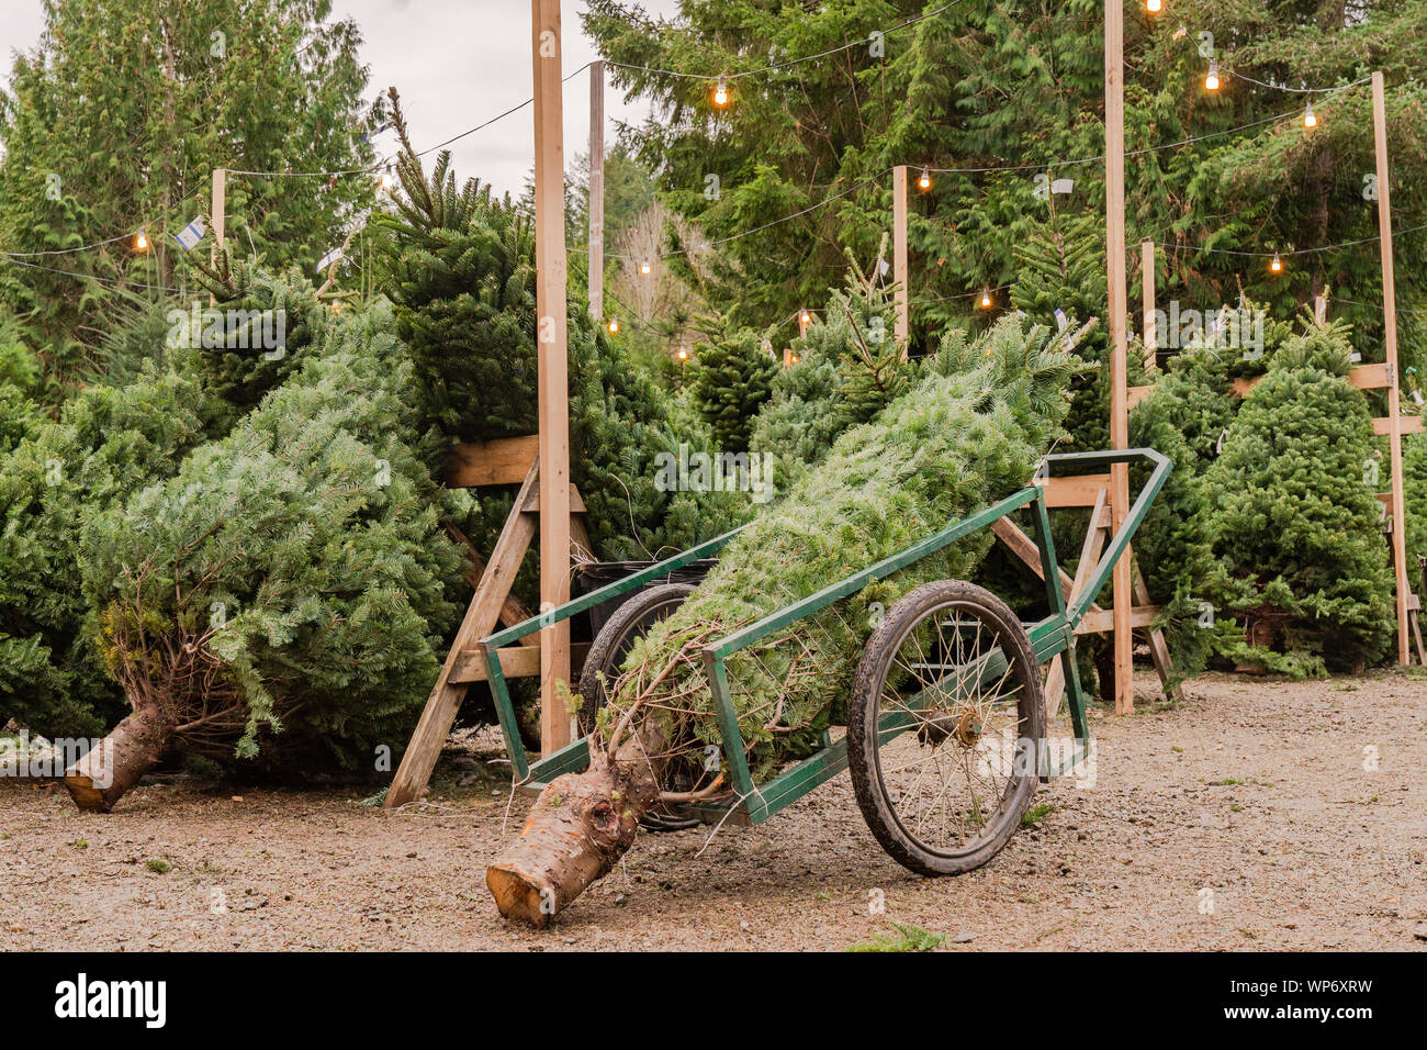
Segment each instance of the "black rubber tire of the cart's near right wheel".
M906 594L888 613L868 640L858 664L858 674L848 706L848 766L858 806L868 827L888 854L903 867L925 876L950 876L972 871L992 857L1020 827L1020 819L1036 791L1036 766L1030 776L1007 776L997 809L985 830L965 850L938 850L913 836L898 817L896 807L882 777L876 724L888 670L902 644L928 616L956 609L970 613L985 624L1007 657L1009 673L1020 687L1017 697L1019 734L1036 741L1030 763L1039 761L1045 734L1045 701L1040 669L1030 639L1016 614L985 587L960 580L938 580ZM979 730L977 730L979 731ZM1025 767L1022 767L1025 769ZM1015 767L1012 773L1015 773Z

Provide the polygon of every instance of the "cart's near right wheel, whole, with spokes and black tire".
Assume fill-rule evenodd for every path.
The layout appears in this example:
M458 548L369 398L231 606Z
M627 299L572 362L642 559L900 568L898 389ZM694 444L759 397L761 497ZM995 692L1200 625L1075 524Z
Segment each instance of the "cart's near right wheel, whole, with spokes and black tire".
M1043 711L1030 639L1005 601L960 580L909 593L868 640L848 710L872 834L920 874L985 864L1030 806Z

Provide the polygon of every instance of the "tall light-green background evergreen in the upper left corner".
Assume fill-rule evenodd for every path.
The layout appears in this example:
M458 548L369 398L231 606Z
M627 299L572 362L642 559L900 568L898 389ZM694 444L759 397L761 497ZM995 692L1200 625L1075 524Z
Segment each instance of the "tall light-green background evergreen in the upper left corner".
M355 23L330 14L331 0L44 0L43 36L0 94L0 244L70 254L13 257L0 300L49 373L100 364L124 287L113 281L160 299L188 283L171 236L195 217L211 226L215 167L348 173L231 177L230 253L251 239L270 266L307 269L341 241L372 197L361 170L382 117L360 97ZM207 243L194 254L207 261Z

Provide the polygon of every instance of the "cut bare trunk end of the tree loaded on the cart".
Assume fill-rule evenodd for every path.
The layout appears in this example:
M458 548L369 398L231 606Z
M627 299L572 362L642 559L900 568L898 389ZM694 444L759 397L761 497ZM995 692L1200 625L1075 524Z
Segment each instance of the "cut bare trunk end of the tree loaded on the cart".
M649 721L614 756L594 751L588 770L545 786L519 839L485 869L502 916L549 924L634 846L639 817L659 797L659 776L646 756L665 749Z

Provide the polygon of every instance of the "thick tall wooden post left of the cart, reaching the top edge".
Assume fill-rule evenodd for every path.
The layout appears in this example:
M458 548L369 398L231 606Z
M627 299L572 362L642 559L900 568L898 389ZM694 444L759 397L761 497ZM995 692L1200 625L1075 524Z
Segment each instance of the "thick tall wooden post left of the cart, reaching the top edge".
M565 317L565 149L559 0L531 0L535 77L535 313L539 361L541 611L569 597L569 381ZM541 751L569 743L569 621L539 633Z

